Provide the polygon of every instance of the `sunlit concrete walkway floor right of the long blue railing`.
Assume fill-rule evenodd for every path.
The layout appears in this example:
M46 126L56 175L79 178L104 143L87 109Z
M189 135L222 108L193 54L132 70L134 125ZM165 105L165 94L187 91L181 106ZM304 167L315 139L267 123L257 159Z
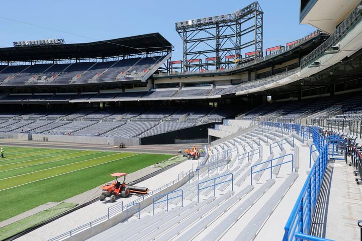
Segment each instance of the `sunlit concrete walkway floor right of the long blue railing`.
M344 161L330 161L317 205L312 235L360 240L357 220L362 219L362 185L356 184L353 167Z

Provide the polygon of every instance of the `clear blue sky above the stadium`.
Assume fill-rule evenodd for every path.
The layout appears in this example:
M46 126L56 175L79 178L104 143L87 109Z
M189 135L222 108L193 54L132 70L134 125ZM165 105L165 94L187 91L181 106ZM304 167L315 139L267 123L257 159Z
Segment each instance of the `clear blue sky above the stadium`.
M299 39L314 31L299 25L298 0L260 0L264 12L264 49ZM37 0L4 1L0 13L0 47L13 41L63 38L66 43L94 40L2 19L9 18L97 40L159 32L175 47L173 60L182 58L182 40L174 23L232 13L246 0Z

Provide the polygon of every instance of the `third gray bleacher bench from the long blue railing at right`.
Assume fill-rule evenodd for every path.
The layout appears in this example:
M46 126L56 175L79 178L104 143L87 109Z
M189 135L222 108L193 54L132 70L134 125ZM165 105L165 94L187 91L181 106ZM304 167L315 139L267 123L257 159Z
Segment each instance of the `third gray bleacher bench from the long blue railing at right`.
M211 223L213 223L218 217L224 214L232 206L234 206L238 201L240 201L245 195L251 192L254 189L254 186L248 185L240 192L234 194L231 198L225 201L220 207L214 209L208 216L203 218L197 225L189 229L183 235L177 237L176 241L191 240L197 236L202 230L207 228Z

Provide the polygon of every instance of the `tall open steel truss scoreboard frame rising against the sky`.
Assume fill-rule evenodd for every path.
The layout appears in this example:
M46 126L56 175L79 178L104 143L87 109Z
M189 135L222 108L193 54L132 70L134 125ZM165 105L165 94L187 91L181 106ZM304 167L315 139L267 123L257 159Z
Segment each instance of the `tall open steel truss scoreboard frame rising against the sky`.
M175 29L184 44L184 71L229 68L262 57L263 12L258 2L232 14L178 22ZM248 52L244 58L243 49Z

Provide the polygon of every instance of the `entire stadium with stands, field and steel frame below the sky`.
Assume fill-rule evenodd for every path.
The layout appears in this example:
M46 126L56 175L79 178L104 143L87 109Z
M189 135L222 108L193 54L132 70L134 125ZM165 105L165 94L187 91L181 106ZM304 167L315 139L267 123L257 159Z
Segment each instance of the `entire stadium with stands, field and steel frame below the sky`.
M0 239L362 240L362 2L244 5L0 48Z

